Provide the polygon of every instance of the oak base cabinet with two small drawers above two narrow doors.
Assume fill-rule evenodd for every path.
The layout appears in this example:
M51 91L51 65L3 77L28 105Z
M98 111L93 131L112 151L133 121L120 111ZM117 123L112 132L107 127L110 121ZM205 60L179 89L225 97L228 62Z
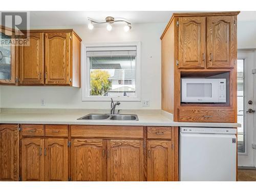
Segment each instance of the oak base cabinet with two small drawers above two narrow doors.
M22 181L68 181L67 125L21 127Z

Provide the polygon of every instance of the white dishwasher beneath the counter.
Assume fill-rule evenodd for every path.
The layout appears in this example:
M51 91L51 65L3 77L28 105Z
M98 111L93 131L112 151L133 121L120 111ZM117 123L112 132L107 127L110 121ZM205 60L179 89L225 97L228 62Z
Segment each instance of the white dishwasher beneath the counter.
M236 181L237 129L180 127L180 181Z

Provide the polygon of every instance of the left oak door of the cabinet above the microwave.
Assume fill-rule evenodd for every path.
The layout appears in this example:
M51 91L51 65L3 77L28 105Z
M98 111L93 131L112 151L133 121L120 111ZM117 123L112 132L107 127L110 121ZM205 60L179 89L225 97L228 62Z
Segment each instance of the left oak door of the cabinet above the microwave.
M206 17L179 17L179 68L206 66Z

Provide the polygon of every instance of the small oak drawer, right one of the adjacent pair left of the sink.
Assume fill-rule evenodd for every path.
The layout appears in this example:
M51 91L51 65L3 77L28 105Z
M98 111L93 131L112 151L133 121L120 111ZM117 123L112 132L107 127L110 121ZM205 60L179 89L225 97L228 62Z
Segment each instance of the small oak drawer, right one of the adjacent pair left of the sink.
M68 125L45 125L46 136L52 137L68 137Z

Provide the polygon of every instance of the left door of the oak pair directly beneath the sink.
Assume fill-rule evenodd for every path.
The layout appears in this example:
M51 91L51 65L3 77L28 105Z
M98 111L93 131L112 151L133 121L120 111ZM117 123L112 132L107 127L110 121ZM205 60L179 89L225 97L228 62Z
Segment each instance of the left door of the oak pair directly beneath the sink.
M72 139L72 181L106 181L106 141Z

